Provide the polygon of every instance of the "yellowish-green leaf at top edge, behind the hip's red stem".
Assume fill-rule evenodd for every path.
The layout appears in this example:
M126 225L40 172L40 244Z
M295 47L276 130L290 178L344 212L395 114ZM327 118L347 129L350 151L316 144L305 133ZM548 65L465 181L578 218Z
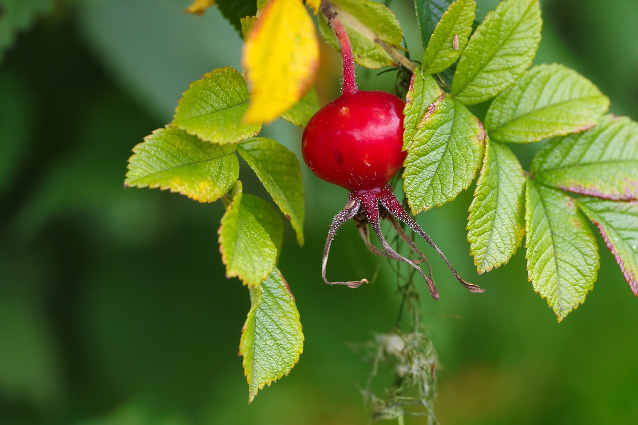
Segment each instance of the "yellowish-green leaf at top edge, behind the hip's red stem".
M332 0L330 4L350 36L356 63L373 69L396 64L383 44L401 48L403 31L387 6L371 0ZM319 29L323 38L339 52L339 41L322 13L319 13Z

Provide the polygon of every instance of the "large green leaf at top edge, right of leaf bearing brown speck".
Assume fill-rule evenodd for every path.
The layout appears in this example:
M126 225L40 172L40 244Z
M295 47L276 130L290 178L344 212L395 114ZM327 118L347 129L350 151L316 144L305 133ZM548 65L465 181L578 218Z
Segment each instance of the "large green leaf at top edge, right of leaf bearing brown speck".
M473 105L514 84L536 55L540 27L538 0L498 4L468 41L452 80L452 94Z

